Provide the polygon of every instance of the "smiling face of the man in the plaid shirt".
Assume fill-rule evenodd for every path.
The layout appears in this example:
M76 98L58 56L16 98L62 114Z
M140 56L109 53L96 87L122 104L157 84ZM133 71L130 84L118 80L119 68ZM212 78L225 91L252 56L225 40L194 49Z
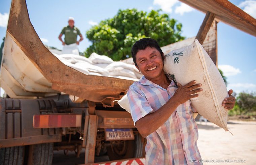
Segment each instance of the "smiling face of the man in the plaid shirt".
M163 59L156 48L147 47L136 54L137 69L148 79L155 80L163 72Z

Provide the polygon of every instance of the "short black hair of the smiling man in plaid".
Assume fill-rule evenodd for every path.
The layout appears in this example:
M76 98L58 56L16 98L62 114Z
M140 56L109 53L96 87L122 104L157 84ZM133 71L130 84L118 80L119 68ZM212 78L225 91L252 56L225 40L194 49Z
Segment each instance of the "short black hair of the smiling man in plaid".
M163 53L162 49L160 48L160 46L158 45L157 41L152 38L143 38L143 39L140 39L139 41L136 41L133 44L133 47L131 50L133 62L135 64L135 66L138 66L136 63L136 54L138 53L139 50L144 50L147 47L156 48L160 52L162 59L164 60L164 53Z

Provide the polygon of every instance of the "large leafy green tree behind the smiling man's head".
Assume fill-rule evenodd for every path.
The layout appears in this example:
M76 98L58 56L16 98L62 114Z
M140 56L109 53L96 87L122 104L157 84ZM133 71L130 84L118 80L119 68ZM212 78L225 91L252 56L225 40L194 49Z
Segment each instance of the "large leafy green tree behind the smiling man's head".
M86 32L92 45L86 49L85 56L96 52L119 61L131 57L132 45L141 38L154 38L160 46L183 40L182 24L159 11L119 10L113 18L101 21Z

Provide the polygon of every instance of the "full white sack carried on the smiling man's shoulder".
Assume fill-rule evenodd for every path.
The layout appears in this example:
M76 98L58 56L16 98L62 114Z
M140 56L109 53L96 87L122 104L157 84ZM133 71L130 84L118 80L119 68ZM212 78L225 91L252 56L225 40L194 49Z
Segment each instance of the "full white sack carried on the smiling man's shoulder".
M228 113L222 106L222 101L228 97L227 88L218 68L198 40L188 47L167 53L163 70L170 79L181 85L186 85L192 80L202 84L200 88L203 91L198 93L198 97L190 99L191 104L207 120L228 131ZM130 112L127 95L118 103Z

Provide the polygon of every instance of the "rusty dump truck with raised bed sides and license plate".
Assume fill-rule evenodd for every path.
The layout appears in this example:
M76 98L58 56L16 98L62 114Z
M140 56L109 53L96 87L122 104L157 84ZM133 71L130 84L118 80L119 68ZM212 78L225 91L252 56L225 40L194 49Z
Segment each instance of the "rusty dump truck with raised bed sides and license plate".
M164 53L196 38L217 65L219 21L256 36L256 20L229 1L181 1L206 16L196 37L164 46ZM86 75L62 63L38 37L25 0L12 0L0 83L7 93L0 99L0 164L51 164L53 150L79 156L81 148L85 164L95 155L145 155L131 115L114 102L133 81Z

